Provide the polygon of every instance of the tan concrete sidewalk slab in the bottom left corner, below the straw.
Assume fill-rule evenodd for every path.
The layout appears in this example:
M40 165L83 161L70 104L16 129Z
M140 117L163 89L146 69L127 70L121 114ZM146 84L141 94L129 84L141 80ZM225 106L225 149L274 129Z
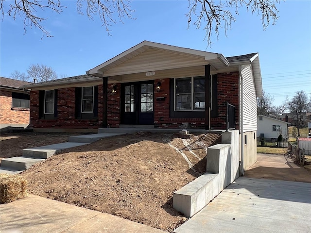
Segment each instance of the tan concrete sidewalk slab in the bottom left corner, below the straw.
M0 205L1 233L165 233L117 216L34 195Z

